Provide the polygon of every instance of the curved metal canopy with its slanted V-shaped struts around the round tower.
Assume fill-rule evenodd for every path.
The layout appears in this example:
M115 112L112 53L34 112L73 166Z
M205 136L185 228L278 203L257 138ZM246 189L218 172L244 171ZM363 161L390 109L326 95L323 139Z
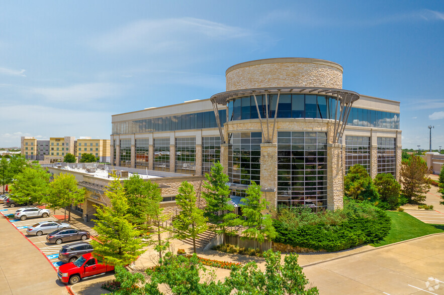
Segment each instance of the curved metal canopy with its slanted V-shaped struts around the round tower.
M213 103L214 114L216 116L217 126L219 127L219 133L221 142L225 143L225 138L222 132L222 126L219 118L219 111L217 108L218 104L227 105L227 102L230 99L252 95L254 97L254 102L256 104L257 115L260 123L260 127L262 129L262 134L265 138L265 142L273 142L273 135L275 133L276 120L279 108L279 97L281 93L307 93L307 94L322 94L329 95L336 99L335 107L334 107L334 127L333 127L333 140L332 143L338 143L339 139L342 137L342 134L345 129L345 125L347 124L348 115L350 114L351 105L353 102L359 99L359 94L354 91L343 90L343 89L335 89L335 88L322 88L322 87L276 87L276 88L254 88L254 89L242 89L242 90L233 90L226 91L215 94L211 96L210 100ZM267 110L265 111L265 119L267 125L267 136L265 136L263 125L262 125L262 117L259 111L259 107L257 104L256 95L264 95L265 96L265 107ZM268 95L277 94L277 102L276 102L276 110L273 118L273 131L270 136L270 121L269 121L269 110L268 110Z

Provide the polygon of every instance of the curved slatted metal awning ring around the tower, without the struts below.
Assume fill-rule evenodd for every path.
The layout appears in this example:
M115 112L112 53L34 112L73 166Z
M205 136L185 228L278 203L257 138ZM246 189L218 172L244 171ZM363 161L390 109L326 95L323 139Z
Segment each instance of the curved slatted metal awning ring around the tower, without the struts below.
M226 105L227 102L235 97L246 96L246 95L260 95L260 94L278 94L281 93L305 93L305 94L322 94L330 95L338 98L343 102L354 102L359 99L359 93L336 88L323 88L323 87L273 87L273 88L253 88L253 89L242 89L242 90L232 90L214 94L211 96L210 100L217 104Z

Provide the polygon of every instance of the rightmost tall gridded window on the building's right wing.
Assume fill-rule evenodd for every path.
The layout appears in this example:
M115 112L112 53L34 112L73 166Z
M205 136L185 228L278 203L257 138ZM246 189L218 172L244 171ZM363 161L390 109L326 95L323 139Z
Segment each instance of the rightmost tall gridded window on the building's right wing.
M396 177L396 140L378 137L378 173L390 173Z

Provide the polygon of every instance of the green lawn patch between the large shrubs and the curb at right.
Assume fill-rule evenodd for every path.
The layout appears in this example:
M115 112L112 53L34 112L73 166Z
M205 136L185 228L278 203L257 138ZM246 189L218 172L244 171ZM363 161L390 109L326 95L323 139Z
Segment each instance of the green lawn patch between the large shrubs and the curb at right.
M432 233L444 232L444 225L427 224L405 212L387 211L387 215L392 219L389 234L379 243L370 245L379 247Z

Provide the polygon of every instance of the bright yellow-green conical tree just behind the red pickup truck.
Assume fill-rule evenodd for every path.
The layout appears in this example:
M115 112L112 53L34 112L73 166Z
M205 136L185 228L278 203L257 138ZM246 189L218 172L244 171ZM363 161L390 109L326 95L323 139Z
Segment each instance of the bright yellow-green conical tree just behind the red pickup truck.
M99 234L91 244L93 256L110 265L127 265L143 253L140 231L133 228L128 219L128 203L120 178L113 176L109 190L105 195L111 201L111 207L97 207L94 230Z

